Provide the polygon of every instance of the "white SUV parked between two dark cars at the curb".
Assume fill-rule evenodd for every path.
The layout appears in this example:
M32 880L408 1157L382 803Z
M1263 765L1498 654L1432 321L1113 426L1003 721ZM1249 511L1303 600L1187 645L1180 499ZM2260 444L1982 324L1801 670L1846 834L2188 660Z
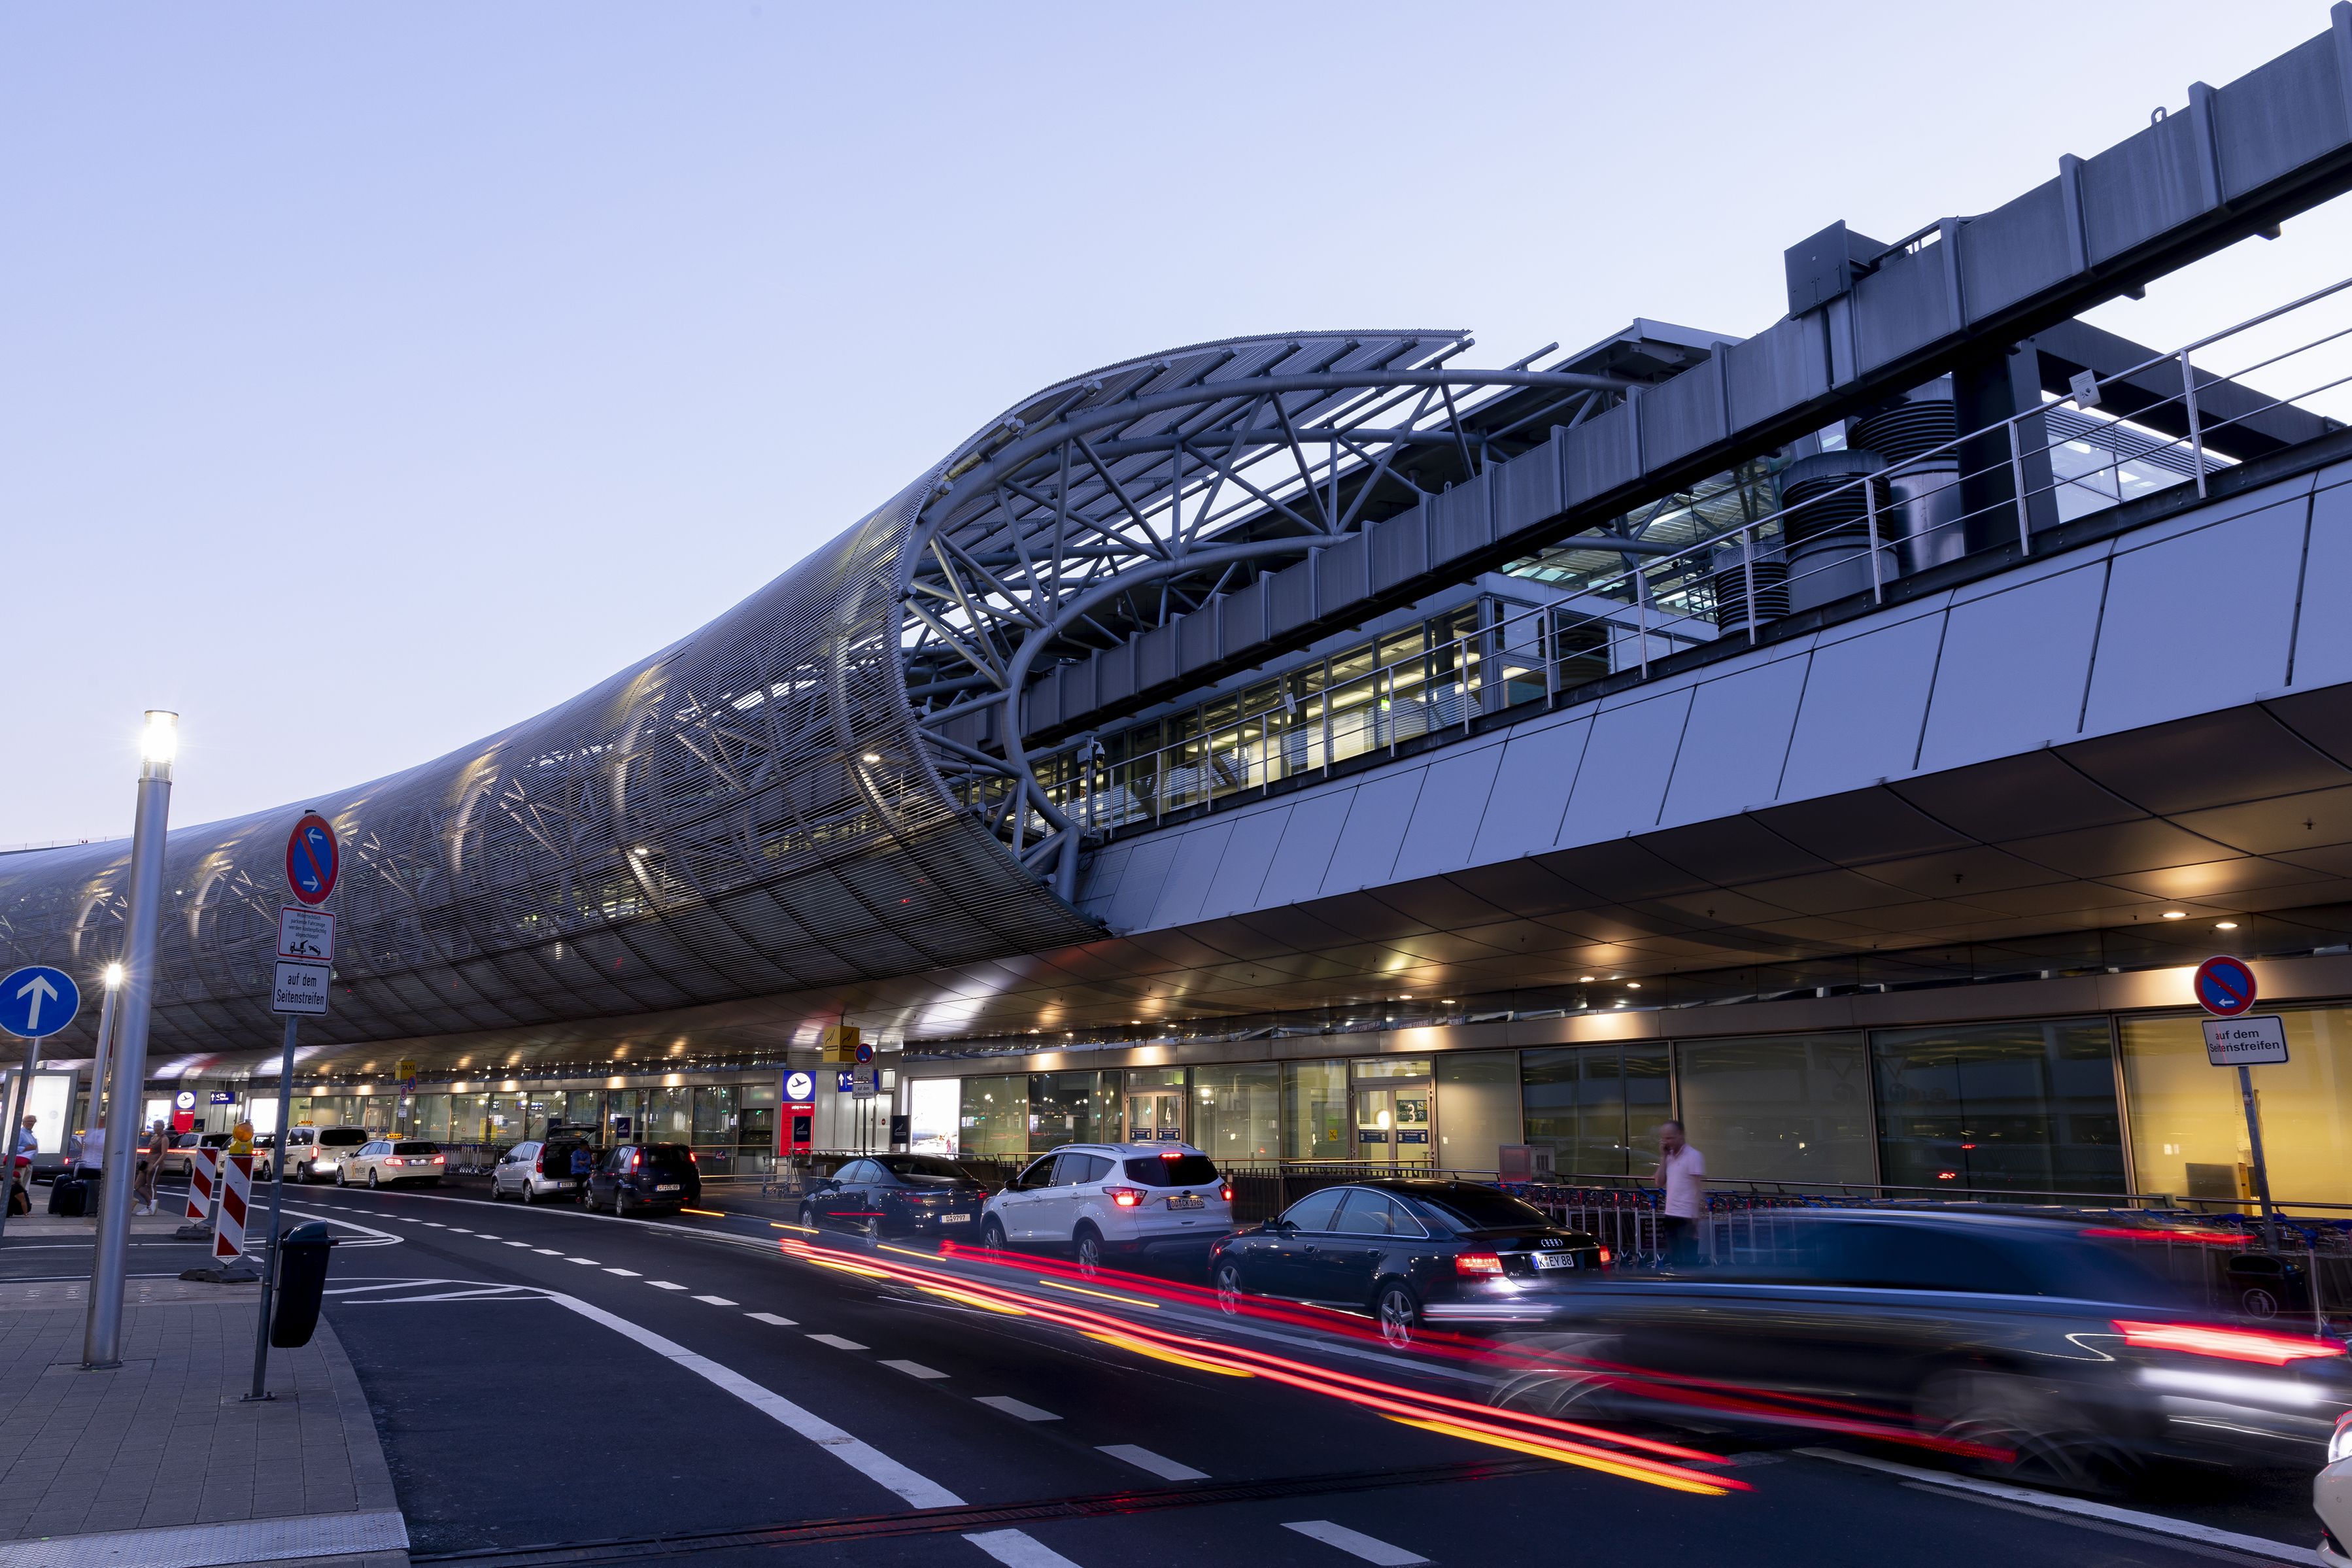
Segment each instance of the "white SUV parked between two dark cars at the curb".
M1040 1154L981 1211L985 1246L1108 1258L1200 1251L1232 1229L1232 1187L1190 1143L1070 1143Z

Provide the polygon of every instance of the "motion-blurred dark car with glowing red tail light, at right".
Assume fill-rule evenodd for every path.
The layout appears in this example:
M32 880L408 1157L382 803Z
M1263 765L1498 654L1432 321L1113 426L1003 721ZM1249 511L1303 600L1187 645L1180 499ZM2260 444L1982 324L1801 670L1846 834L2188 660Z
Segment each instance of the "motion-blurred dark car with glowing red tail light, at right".
M1915 1436L2077 1490L2274 1465L2352 1408L2343 1340L2209 1307L2199 1232L2002 1211L1776 1213L1726 1262L1581 1281L1496 1403Z

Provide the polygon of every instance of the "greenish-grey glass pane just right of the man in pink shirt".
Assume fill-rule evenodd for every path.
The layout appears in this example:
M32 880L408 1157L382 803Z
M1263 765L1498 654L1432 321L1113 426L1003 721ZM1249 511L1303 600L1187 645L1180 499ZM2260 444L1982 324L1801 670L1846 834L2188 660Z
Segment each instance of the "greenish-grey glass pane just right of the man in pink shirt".
M1675 1046L1682 1121L1710 1175L1870 1182L1870 1065L1860 1034Z

